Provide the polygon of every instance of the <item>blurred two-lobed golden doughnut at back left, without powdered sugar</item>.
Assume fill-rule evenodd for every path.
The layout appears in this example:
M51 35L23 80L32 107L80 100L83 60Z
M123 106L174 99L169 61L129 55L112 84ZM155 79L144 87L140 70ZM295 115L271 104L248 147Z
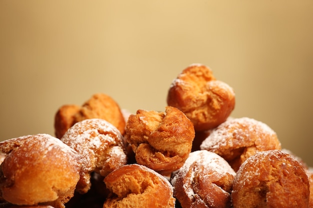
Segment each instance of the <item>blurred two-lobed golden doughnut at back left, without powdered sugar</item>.
M75 123L92 118L106 120L122 135L125 133L125 120L118 104L110 96L96 93L82 106L63 105L58 109L54 118L55 136L60 139Z

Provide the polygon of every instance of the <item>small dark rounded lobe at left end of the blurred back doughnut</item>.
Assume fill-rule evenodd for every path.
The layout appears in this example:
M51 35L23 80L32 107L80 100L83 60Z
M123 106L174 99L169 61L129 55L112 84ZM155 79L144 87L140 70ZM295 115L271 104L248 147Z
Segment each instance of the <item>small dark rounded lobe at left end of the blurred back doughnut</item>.
M78 105L63 105L54 116L54 134L60 139L67 129L74 125L74 115L79 111Z

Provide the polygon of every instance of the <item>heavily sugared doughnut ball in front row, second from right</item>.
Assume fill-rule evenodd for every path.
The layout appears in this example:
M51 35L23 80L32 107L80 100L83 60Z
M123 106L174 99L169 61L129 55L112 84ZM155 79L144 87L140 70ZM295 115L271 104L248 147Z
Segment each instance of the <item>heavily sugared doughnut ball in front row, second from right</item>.
M230 208L234 176L222 157L199 150L189 154L170 182L182 208Z

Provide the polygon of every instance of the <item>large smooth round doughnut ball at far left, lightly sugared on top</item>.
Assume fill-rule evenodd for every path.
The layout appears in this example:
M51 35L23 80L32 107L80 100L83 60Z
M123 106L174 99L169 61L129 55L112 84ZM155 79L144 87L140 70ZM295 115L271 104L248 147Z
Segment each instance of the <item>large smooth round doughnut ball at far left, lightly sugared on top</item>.
M18 137L0 143L7 154L0 166L0 194L14 205L64 208L79 180L78 154L47 134Z

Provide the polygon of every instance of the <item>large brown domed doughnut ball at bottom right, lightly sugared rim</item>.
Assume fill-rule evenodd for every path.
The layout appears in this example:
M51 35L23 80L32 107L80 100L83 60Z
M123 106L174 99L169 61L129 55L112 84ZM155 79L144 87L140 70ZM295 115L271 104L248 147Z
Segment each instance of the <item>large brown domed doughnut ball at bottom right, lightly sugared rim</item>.
M239 168L233 208L308 208L309 181L301 163L280 150L258 152Z

